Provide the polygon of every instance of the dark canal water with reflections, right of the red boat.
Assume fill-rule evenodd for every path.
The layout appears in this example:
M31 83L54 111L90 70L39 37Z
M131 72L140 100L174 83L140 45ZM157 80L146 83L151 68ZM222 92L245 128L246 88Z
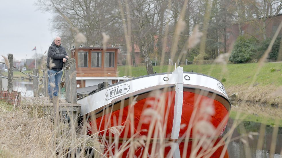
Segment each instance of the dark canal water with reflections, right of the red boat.
M229 119L227 123L227 127L225 130L225 133L230 130L232 124L234 123L233 119ZM244 127L244 128L242 128ZM260 127L261 123L256 123L252 121L243 121L240 123L238 127L236 127L232 137L242 136L244 133L249 132L258 132L260 133ZM264 129L264 128L263 128ZM240 139L236 139L235 141L232 141L228 145L228 153L230 155L230 158L237 158L237 157L250 157L250 158L268 158L268 157L274 157L279 158L281 147L282 147L282 127L278 127L278 134L277 138L274 139L275 142L272 141L273 136L273 129L274 127L272 125L266 125L265 126L265 137L263 139L263 145L262 149L257 149L258 145L258 135L254 135L253 139L250 139L250 137L245 137L247 144L243 143ZM244 131L245 130L245 131ZM275 150L273 150L273 154L271 155L271 143L276 143Z

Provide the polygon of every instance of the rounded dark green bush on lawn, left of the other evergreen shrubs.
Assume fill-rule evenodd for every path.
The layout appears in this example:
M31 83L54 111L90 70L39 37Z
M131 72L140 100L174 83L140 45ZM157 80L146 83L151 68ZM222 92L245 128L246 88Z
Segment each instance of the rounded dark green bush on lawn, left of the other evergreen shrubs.
M234 44L229 60L232 63L246 63L250 61L257 51L256 44L257 40L255 38L239 36Z

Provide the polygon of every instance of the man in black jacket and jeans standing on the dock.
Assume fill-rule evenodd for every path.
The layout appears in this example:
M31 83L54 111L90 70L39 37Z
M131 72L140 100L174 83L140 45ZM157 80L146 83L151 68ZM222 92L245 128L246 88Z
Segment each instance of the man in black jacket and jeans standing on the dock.
M48 75L52 75L54 73L61 71L64 66L64 62L66 62L69 59L65 48L61 45L61 41L62 41L61 37L56 37L48 49L48 57L47 57L47 67L49 69ZM50 102L53 102L53 96L58 96L59 84L62 75L63 72L60 72L57 75L52 75L49 77L48 94L49 94Z

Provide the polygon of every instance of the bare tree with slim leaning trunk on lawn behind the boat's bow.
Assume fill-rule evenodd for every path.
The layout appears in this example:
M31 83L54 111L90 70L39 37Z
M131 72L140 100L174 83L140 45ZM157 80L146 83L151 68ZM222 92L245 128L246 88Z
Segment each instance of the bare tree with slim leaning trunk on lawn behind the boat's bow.
M144 56L147 74L154 73L150 55L162 47L161 37L165 23L171 20L170 15L165 15L165 1L135 0L124 6L130 6L132 22L132 43L136 44ZM155 44L157 43L157 44Z

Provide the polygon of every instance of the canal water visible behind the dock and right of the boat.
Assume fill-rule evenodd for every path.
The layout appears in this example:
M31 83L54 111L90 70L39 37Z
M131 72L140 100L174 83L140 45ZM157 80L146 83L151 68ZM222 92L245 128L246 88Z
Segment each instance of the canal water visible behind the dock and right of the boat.
M22 92L22 97L33 96L33 83L32 82L14 82L14 90ZM43 88L40 90L40 94L44 94ZM234 119L229 118L225 133L227 133L234 123ZM265 136L263 139L262 149L257 149L258 135L253 135L253 139L250 137L247 140L235 139L228 144L228 155L230 158L281 158L282 155L282 127L278 127L277 137L273 139L273 130L275 125L265 125ZM242 122L236 127L232 138L242 136L244 133L255 132L259 133L261 123L242 120ZM274 141L272 141L272 139ZM246 143L247 142L247 143ZM271 153L271 144L275 144L275 149Z

